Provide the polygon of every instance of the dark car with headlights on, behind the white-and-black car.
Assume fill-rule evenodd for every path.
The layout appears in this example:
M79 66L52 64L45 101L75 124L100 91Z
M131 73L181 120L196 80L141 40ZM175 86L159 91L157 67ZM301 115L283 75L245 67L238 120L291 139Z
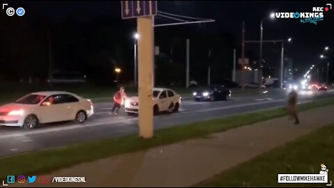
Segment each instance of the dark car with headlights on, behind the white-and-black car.
M222 85L208 86L198 91L193 92L193 99L195 101L216 101L227 100L230 97L231 91Z

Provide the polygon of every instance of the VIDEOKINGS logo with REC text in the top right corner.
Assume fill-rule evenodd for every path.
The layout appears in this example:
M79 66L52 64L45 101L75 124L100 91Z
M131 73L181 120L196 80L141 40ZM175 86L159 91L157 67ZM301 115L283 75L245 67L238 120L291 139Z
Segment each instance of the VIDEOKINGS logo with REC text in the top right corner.
M276 12L275 16L279 19L300 19L301 23L312 23L317 25L317 22L324 20L324 12L328 12L329 10L332 10L332 4L326 3L326 6L324 7L313 7L312 12Z

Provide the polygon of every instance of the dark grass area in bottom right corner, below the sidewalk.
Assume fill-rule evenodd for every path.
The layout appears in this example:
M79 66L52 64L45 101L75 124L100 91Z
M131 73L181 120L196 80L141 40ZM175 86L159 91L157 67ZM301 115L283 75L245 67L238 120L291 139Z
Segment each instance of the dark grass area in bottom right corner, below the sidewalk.
M324 184L278 184L278 173L319 173L326 164L334 180L334 124L321 127L194 187L326 187Z

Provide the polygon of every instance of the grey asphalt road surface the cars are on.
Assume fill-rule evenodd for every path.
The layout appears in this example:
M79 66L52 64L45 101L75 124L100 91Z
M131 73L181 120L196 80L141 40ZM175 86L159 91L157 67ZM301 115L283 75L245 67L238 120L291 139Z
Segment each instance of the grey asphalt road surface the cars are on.
M333 91L303 92L299 94L299 102L333 96ZM154 129L280 107L286 104L286 99L286 91L272 91L257 95L232 96L227 101L218 102L183 100L180 112L155 116ZM0 156L66 146L71 143L81 143L111 136L136 134L138 132L138 118L127 116L122 109L117 116L109 115L111 107L111 102L96 103L95 114L81 125L72 122L51 123L40 125L34 130L0 126Z

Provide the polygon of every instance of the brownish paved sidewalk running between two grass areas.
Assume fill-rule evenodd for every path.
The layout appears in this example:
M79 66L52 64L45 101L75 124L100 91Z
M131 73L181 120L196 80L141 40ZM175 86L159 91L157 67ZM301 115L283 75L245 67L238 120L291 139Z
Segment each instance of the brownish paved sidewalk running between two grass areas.
M49 173L49 187L189 187L253 157L334 123L334 105L192 139L88 162ZM87 151L94 152L94 151ZM86 176L86 184L52 183L54 176ZM37 180L36 180L37 181ZM17 185L17 186L31 186ZM35 183L31 187L40 186Z

